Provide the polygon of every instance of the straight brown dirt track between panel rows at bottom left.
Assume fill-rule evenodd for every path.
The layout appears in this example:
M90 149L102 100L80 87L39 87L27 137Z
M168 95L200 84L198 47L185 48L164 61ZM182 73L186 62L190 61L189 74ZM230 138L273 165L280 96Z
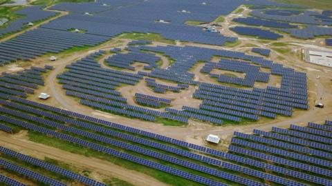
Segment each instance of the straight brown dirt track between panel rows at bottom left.
M26 137L22 136L21 134L16 136L0 132L0 145L39 159L44 159L44 157L53 158L57 161L74 165L75 167L83 170L88 169L91 172L96 172L106 178L116 177L121 180L125 180L132 185L166 186L165 183L161 183L160 181L156 180L155 178L151 178L146 174L125 169L108 161L102 161L98 158L86 157L39 143L33 143L28 141Z

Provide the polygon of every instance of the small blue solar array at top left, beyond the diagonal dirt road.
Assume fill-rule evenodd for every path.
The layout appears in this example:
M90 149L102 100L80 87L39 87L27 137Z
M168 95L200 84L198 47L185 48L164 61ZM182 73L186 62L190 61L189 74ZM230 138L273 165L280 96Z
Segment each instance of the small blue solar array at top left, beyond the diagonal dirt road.
M55 16L57 12L42 10L42 6L27 6L21 10L15 12L16 14L22 15L19 19L10 21L5 28L0 29L0 37L5 34L12 32L18 32L28 26L28 23L33 23L36 21L41 21L43 19L48 19L49 17Z

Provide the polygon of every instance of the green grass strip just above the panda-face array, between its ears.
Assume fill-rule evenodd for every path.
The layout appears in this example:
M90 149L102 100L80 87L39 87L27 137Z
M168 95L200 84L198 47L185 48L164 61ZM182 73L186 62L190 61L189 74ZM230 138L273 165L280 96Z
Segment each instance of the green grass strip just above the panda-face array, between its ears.
M132 40L145 40L145 41L157 41L162 43L168 43L175 45L175 41L170 39L163 38L160 34L154 34L154 33L125 33L121 34L118 39L132 39Z

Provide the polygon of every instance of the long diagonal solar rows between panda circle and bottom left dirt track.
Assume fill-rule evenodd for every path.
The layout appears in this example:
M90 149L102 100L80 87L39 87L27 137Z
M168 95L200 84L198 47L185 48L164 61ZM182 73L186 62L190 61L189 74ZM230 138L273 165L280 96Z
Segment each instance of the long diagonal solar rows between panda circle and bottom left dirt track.
M283 169L277 165L269 167L267 164L261 164L259 161L250 160L249 158L219 152L185 141L178 141L166 136L126 127L118 123L102 121L91 116L60 110L56 107L27 101L15 96L0 94L0 97L4 99L1 100L2 106L0 107L0 120L4 123L11 123L12 125L24 127L41 134L54 136L68 143L89 147L92 150L181 176L188 180L202 183L203 185L225 185L223 183L224 180L228 180L230 185L231 183L265 185L263 181L261 182L257 178L282 185L305 185L305 183L302 183L302 177L295 177L294 180L292 180L292 176L288 177L292 179L283 178L274 173L272 174L272 172L266 173L264 169L261 169L262 167L259 167L264 166L266 169L273 169L275 167L278 168L278 171ZM10 101L6 101L6 99ZM68 125L64 125L63 123L67 123ZM95 141L100 143L97 144ZM163 141L163 143L160 143L160 141ZM149 148L147 149L145 146ZM117 147L117 149L113 149L113 147ZM119 148L121 152L118 151ZM194 151L189 151L187 148L194 149ZM158 152L156 152L156 149L158 149ZM129 152L139 153L140 157L131 155ZM174 154L177 156L174 156ZM16 152L11 156L31 160L29 162L33 163L38 162L28 157L26 158L26 156L21 156ZM147 157L149 160L146 159ZM166 161L167 165L161 165L158 163L159 160ZM176 165L176 168L174 165ZM252 169L252 166L256 168ZM186 170L183 170L182 167ZM192 173L187 172L188 169L191 169ZM231 170L232 172L228 173L225 170ZM198 175L197 172L201 172L201 174ZM286 175L285 172L279 171L277 173L279 175ZM304 175L304 173L297 171L290 172L288 170L287 174L290 173L293 176ZM326 179L317 178L317 180L320 183L320 181Z

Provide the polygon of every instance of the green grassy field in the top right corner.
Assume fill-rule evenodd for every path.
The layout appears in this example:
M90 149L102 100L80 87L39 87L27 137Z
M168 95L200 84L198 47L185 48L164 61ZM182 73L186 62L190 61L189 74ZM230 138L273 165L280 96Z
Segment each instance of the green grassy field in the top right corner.
M331 10L331 0L274 0L278 3L295 4L299 6L306 6L308 8L317 8L322 10Z

